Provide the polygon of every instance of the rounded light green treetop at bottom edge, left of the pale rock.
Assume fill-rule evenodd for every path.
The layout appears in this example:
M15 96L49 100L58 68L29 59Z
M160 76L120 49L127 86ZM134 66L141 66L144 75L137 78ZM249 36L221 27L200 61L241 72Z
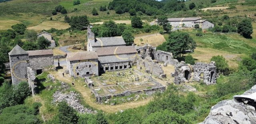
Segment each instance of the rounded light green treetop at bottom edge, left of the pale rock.
M186 117L170 110L164 110L150 114L142 124L191 124Z

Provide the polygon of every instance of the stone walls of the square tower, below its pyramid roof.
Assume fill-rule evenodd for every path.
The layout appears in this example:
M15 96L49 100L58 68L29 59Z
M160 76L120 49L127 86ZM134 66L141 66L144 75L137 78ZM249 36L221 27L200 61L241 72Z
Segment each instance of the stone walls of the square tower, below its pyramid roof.
M27 80L27 67L28 63L28 54L24 55L11 55L10 59L10 68L12 74L12 84L18 85L21 81Z

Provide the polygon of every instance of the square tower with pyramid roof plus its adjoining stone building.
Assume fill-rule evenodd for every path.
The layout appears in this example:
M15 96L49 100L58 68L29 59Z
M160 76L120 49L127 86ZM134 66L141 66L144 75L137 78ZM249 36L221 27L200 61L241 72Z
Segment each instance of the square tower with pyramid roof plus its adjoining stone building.
M40 74L45 67L54 65L52 49L25 51L16 45L8 54L13 85L27 81L28 72L31 73L27 67Z

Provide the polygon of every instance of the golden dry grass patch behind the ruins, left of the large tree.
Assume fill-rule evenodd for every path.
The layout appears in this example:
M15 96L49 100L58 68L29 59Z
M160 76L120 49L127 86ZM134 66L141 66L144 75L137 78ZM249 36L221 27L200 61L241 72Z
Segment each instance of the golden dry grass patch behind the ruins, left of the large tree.
M156 47L160 44L162 44L165 40L164 36L160 33L150 34L150 35L144 35L144 36L138 36L135 37L134 43L143 46L146 43L152 45L153 47Z

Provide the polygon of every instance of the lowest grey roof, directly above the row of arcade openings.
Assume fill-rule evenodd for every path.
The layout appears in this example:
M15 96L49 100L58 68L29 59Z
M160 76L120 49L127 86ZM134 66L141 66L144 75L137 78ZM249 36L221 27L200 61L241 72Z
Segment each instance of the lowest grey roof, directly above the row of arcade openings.
M104 57L99 57L98 59L101 64L104 63L119 63L119 62L128 62L130 61L128 55L112 55L112 56L104 56Z

